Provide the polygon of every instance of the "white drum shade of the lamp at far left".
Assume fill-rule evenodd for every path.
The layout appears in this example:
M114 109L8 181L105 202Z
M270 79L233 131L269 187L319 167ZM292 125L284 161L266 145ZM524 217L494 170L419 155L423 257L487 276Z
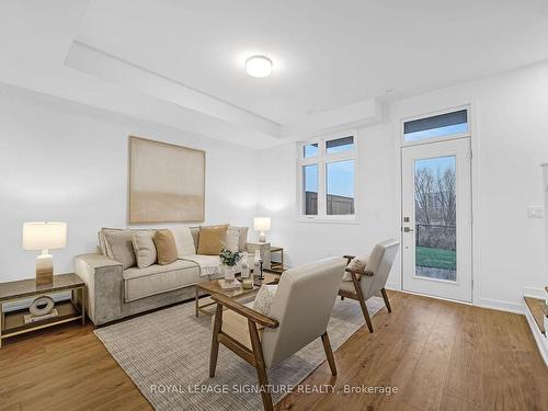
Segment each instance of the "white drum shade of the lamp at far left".
M67 222L23 224L23 249L53 250L67 246Z

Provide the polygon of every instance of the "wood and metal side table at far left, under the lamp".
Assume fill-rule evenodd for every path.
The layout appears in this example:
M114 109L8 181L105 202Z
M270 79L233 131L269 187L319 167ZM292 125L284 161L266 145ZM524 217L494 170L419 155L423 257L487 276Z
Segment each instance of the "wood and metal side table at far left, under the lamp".
M71 298L55 304L58 311L57 317L25 323L24 317L28 309L16 309L4 312L8 302L34 299L43 295L70 292ZM21 279L0 284L0 347L2 341L10 336L39 330L47 327L61 324L69 321L80 320L85 323L85 284L76 274L54 275L54 283L49 285L36 285L36 281Z

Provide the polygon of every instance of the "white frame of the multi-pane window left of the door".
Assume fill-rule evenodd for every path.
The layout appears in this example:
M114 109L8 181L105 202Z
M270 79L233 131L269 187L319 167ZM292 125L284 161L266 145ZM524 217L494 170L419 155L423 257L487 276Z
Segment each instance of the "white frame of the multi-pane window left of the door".
M327 141L343 137L353 137L354 148L346 151L328 155ZM357 130L333 133L316 137L306 141L298 141L297 150L297 207L296 219L301 222L345 222L357 224L358 215L358 142ZM305 157L305 146L318 144L318 156ZM328 215L327 214L327 167L331 162L354 160L354 214ZM302 168L305 165L318 165L318 214L306 215L305 213L305 182Z

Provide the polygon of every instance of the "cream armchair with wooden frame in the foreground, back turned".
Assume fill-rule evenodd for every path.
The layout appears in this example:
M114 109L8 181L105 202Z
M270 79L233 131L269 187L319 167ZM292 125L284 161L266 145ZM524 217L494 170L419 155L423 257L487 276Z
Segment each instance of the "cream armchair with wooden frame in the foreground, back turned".
M217 311L209 376L215 377L221 343L256 368L263 407L272 410L266 368L278 365L318 338L331 373L336 375L327 327L345 265L344 259L330 258L286 271L269 317L226 296L213 295Z

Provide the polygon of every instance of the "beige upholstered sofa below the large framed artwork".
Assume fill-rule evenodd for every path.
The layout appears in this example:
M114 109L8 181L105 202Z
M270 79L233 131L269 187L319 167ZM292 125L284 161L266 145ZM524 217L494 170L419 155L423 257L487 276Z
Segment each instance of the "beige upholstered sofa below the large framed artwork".
M87 285L87 313L95 326L193 298L197 283L221 276L220 273L201 275L199 265L184 259L168 265L152 264L146 269L132 266L124 270L121 262L105 255L101 244L103 230L99 233L98 253L81 254L75 259L76 273ZM199 228L191 227L191 232L197 249ZM264 267L267 269L270 244L249 243L247 235L247 227L240 228L243 251L253 255L259 249Z

